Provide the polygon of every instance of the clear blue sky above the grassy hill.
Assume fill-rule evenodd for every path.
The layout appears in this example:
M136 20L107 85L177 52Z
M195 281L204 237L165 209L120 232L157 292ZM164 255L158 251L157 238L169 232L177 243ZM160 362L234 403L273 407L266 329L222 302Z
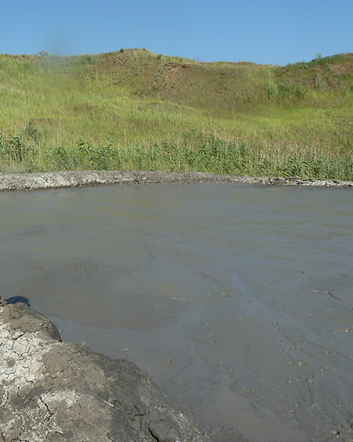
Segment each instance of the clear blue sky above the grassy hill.
M353 0L1 0L0 54L145 48L204 61L353 52Z

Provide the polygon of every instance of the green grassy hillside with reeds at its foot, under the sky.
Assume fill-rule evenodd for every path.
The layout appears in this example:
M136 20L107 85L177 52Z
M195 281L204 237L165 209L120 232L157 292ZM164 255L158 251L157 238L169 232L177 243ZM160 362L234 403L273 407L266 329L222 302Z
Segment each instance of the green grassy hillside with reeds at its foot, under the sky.
M353 180L353 54L270 66L126 49L0 55L0 171Z

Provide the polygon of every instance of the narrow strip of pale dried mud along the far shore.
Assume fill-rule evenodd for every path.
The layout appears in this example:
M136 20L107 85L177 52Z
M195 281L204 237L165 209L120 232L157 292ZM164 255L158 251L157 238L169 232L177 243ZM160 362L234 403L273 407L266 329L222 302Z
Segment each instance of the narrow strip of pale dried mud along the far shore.
M353 187L352 181L314 180L214 175L203 172L161 171L60 171L36 174L0 174L0 191L61 189L79 186L108 186L111 184L152 183L210 183L257 184L277 186Z

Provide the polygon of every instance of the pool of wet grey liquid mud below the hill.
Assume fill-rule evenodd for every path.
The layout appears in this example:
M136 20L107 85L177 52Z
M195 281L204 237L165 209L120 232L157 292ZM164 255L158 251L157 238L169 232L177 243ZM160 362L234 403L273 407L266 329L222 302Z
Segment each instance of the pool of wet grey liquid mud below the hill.
M128 358L213 440L353 440L353 192L0 194L1 295Z

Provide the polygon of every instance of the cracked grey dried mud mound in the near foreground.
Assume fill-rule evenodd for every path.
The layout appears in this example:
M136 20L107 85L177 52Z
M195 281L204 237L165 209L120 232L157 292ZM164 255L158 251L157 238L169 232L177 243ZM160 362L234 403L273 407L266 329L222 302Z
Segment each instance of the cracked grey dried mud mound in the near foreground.
M0 441L208 442L147 373L0 297Z

